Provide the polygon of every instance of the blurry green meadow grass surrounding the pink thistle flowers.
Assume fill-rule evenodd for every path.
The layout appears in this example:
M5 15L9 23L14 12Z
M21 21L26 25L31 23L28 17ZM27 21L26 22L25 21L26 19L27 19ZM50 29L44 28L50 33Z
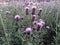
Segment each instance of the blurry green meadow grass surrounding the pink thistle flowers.
M55 5L38 6L43 9L43 12L37 21L43 19L46 23L45 25L50 26L50 30L46 30L45 27L43 27L39 32L34 32L33 30L32 34L29 36L24 35L23 32L27 27L31 27L31 14L26 16L24 7L21 5L1 5L3 11L0 13L0 44L45 45L45 42L47 42L47 45L60 45L60 4L57 4L58 3L55 3ZM9 10L11 14L6 15L6 10ZM17 22L19 29L16 31L17 26L14 17L17 14L23 17L23 20ZM21 25L23 26L22 28ZM37 38L33 41L32 35L35 36L35 34Z

